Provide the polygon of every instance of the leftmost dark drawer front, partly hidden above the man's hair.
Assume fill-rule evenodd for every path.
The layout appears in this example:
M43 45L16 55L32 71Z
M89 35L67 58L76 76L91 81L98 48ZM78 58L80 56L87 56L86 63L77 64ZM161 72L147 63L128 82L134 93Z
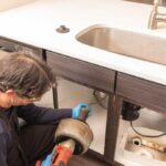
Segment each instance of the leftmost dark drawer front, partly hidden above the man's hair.
M3 38L0 38L0 50L6 51L6 52L21 51L30 55L42 58L42 49L34 48L28 44L23 44L17 41L11 41L11 40L3 39Z

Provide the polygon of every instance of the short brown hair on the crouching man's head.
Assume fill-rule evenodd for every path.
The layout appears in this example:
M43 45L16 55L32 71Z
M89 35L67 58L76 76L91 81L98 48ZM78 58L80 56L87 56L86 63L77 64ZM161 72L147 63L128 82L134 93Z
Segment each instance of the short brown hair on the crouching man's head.
M18 95L37 97L55 83L55 75L40 59L10 53L0 59L0 91L13 89Z

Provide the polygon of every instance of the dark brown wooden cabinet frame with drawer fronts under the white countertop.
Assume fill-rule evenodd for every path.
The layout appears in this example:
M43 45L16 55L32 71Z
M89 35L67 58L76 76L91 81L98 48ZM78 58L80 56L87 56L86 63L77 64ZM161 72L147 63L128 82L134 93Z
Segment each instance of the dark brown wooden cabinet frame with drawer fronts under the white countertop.
M165 85L6 38L0 38L0 49L7 52L23 51L32 55L38 54L46 61L58 76L108 94L104 154L93 149L85 154L85 160L98 159L101 163L98 166L122 165L115 160L115 149L123 101L165 113ZM56 87L54 87L54 107L59 104L58 95ZM74 158L77 160L77 157Z

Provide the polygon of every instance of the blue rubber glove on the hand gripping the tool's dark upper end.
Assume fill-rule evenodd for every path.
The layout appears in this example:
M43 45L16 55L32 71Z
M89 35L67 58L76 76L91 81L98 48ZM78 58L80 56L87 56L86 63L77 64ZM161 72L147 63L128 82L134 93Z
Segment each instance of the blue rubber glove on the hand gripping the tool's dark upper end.
M89 110L89 116L92 114L92 108L86 103L80 103L72 110L72 118L79 118L80 112L82 107L86 107Z

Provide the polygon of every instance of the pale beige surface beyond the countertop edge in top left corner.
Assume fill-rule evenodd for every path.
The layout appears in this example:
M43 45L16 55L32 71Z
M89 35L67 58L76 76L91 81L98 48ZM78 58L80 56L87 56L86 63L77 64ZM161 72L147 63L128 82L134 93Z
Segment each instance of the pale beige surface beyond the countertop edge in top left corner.
M34 0L0 0L0 11L15 8L32 1Z

